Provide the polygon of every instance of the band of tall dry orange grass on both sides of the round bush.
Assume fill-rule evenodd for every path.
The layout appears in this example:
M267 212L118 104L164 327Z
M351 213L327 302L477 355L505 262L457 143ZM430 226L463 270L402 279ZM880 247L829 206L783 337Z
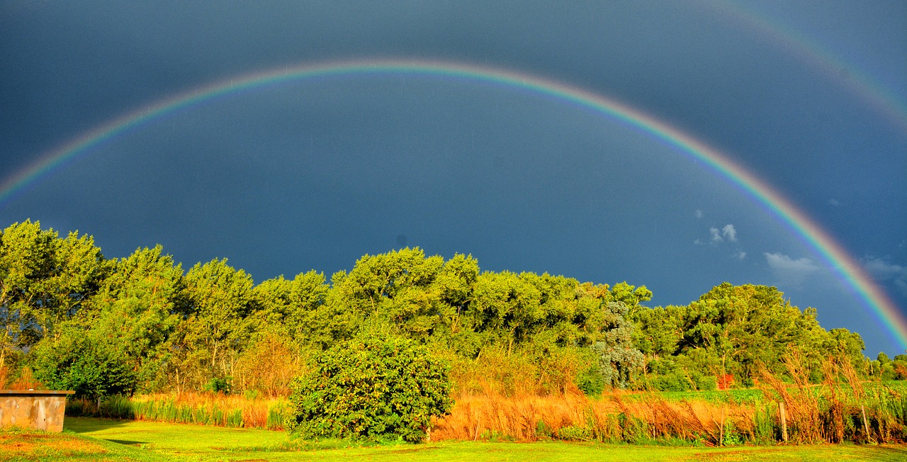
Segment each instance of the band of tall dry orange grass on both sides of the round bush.
M600 397L459 395L434 422L433 439L660 445L772 445L783 440L785 405L792 443L907 441L904 382L786 384L719 391L615 391ZM96 404L67 399L66 415L226 428L281 430L292 420L287 398L188 392L112 396Z

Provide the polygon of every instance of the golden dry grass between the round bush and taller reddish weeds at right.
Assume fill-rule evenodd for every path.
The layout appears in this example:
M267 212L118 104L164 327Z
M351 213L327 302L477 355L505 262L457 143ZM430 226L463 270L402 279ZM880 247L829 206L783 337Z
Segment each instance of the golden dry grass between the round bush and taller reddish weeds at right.
M652 393L621 399L615 392L592 399L581 393L504 396L461 395L451 414L435 420L433 440L485 437L536 441L547 437L638 441L682 438L719 444L728 424L752 434L751 406L704 401L673 402Z

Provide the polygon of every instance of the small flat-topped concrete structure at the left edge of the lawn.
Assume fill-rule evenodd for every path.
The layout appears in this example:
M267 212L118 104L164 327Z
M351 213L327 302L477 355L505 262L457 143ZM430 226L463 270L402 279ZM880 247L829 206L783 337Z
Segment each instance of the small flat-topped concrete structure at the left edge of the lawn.
M73 391L0 390L0 428L20 427L63 431L66 395Z

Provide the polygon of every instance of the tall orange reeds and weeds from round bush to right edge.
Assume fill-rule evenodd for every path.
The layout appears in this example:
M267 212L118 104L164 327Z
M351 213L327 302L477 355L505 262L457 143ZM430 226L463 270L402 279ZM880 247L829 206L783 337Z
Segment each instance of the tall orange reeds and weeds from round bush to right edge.
M600 398L570 387L539 387L533 369L522 371L529 383L521 385L511 380L513 364L502 366L507 374L461 370L470 386L457 388L451 414L434 420L432 439L770 445L783 442L786 424L793 443L907 440L904 389L861 380L846 359L827 359L820 385L809 382L809 369L794 351L785 359L784 376L762 369L762 389L615 391Z

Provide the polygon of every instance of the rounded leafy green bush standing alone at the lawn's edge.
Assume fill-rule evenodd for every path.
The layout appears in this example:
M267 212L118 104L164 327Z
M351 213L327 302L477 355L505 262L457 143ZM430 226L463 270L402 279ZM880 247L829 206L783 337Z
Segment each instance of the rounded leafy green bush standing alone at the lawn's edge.
M361 335L317 357L293 384L302 437L402 438L418 442L449 413L450 366L410 339Z

